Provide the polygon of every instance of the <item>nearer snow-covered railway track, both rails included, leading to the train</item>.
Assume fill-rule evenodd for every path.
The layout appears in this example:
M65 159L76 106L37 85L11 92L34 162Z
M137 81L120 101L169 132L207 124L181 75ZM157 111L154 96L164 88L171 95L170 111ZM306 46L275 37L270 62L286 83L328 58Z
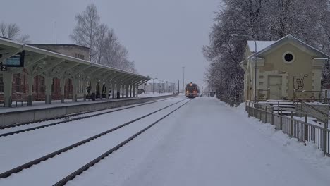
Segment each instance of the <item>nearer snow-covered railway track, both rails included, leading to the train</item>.
M139 118L135 118L134 120L130 120L129 122L124 123L123 125L118 125L116 128L111 128L110 130L99 133L98 135L89 137L86 140L82 140L82 141L72 144L66 148L60 149L58 151L54 151L53 153L48 154L46 156L42 156L39 159L35 159L34 161L25 163L22 166L18 166L9 171L1 173L0 178L7 178L9 175L11 175L13 173L18 173L18 172L22 171L23 169L27 168L25 171L22 171L21 173L11 176L11 177L14 177L13 179L16 179L15 177L23 174L23 177L24 177L24 175L26 175L26 174L29 175L28 172L30 172L29 171L30 169L36 169L37 166L44 167L44 169L42 169L42 171L40 171L41 169L39 170L39 173L44 173L44 171L49 170L49 166L59 166L61 164L63 167L67 168L68 170L66 170L66 171L59 170L61 173L59 173L59 175L56 177L57 180L56 180L56 178L54 178L54 182L57 182L55 185L64 185L66 182L68 182L68 180L72 180L75 177L75 175L79 175L80 173L85 171L90 166L93 166L94 163L96 163L100 159L103 159L105 156L108 156L112 152L116 151L121 146L123 146L123 144L126 144L127 142L129 142L136 136L140 135L142 132L144 132L148 128L151 128L152 125L155 125L160 120L166 118L171 113L173 113L174 111L181 108L181 106L183 106L189 102L189 101L185 101L185 100L186 99L183 99L183 100L178 101L169 106L165 106L164 108L158 109L157 111L153 111L152 113L148 113L145 116L141 116ZM181 104L181 106L178 106L175 109L171 108L175 104L178 104L182 101L184 101L184 103ZM169 110L169 111L167 111L164 114L164 112L166 110ZM154 121L152 124L149 124L149 123L151 123L149 120L156 120L156 121ZM130 125L133 123L134 123L134 125ZM125 126L128 126L128 125L130 125L130 127L124 128ZM141 128L142 128L142 130L141 130ZM121 129L121 130L118 130L118 129ZM138 132L136 132L136 131L138 131ZM109 133L111 133L111 135L109 135ZM125 138L126 140L123 140L123 138ZM100 146L100 144L104 144L104 143L112 143L112 144L110 144L111 147L108 147L107 148L108 150L105 153L104 153L104 151L105 151L104 148L106 148L106 147ZM82 144L84 144L84 145L82 145ZM79 148L75 148L75 147L79 147ZM77 161L75 159L75 157L77 157L77 156L80 156L80 157L83 156L85 158L85 154L88 151L93 152L92 155L94 155L94 156L90 157L90 159L93 159L92 161L90 161L90 159L88 159L88 161L90 161L90 162L85 164L85 166L82 166L82 165L84 164L84 162L87 162L87 161L79 162L79 163L73 162L73 161ZM65 153L63 153L63 152L65 152ZM97 154L102 154L102 155L99 156ZM56 156L56 155L59 155L59 156ZM97 156L96 159L94 159L95 156ZM47 160L47 161L45 161L45 160ZM61 161L61 163L58 162L59 160ZM41 161L44 161L44 162L40 163ZM70 163L73 162L73 164L75 164L75 166L73 168L66 167L66 166L68 166L68 164L67 164L68 162L70 162ZM40 164L30 168L32 165L36 165L38 163L40 163ZM47 165L47 164L49 164L49 165ZM76 171L74 171L75 168L80 167L80 166L81 166L81 168L78 168ZM63 167L62 167L62 169L63 169ZM54 167L52 167L50 169L53 170ZM63 175L63 173L67 173L68 171L73 171L73 173L70 173L69 175ZM40 177L39 173L35 173L33 175L35 175L35 176L38 175L38 177ZM48 174L50 174L50 173L48 173ZM50 175L54 175L54 174L50 174ZM61 181L59 181L61 178L63 178L63 179ZM2 181L6 182L7 179L0 180L0 183ZM51 177L51 179L52 179L52 177ZM51 183L51 184L53 184L53 183ZM47 184L47 185L49 185L49 184Z

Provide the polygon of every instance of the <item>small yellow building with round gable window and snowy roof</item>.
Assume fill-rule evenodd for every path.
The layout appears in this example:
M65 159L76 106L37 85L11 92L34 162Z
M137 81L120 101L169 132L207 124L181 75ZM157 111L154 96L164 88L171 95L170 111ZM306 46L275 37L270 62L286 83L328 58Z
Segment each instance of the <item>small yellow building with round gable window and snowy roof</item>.
M328 55L292 35L276 42L247 41L245 60L240 63L245 71L245 100L255 100L255 95L257 100L318 99L327 60Z

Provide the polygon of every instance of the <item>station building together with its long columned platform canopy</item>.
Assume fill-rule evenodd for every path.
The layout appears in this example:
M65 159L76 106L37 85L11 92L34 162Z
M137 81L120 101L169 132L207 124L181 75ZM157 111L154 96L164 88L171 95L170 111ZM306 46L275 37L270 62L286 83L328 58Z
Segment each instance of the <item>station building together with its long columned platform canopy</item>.
M135 97L138 85L150 80L90 63L89 59L90 49L85 46L20 44L0 38L0 104L10 107L16 100L27 101L27 105L32 101L51 104L54 99L77 101L79 97L86 98L88 86L92 99L97 92L102 92L108 99L110 94L112 98ZM116 96L114 91L109 92L110 89L116 89Z

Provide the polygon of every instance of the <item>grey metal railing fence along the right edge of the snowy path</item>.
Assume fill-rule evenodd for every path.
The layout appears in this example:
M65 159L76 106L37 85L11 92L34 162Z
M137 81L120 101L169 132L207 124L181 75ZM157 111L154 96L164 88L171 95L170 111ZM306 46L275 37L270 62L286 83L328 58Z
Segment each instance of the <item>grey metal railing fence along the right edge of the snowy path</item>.
M297 138L305 145L307 142L316 144L319 149L322 149L324 156L330 156L328 120L324 120L323 125L314 125L308 123L307 113L305 113L305 120L302 121L293 118L292 112L291 117L287 117L267 110L267 106L262 107L252 102L245 102L245 111L249 117L258 118L262 123L275 125L276 130L282 130L283 133Z

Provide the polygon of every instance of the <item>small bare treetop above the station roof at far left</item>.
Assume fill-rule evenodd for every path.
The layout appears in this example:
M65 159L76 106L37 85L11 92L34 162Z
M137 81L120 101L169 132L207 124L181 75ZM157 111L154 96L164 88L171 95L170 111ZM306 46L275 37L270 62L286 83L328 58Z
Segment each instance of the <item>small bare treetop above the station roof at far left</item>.
M16 23L0 23L0 36L13 39L16 42L27 43L30 42L29 35L21 35L20 27Z

